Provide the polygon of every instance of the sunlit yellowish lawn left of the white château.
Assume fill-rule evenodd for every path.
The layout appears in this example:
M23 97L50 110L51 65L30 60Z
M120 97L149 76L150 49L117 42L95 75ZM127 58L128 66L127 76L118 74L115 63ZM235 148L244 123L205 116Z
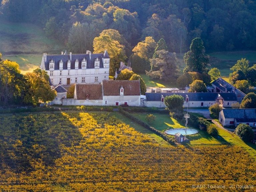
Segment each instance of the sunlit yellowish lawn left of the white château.
M42 55L3 55L2 59L9 59L19 64L21 73L32 72L34 69L40 67Z

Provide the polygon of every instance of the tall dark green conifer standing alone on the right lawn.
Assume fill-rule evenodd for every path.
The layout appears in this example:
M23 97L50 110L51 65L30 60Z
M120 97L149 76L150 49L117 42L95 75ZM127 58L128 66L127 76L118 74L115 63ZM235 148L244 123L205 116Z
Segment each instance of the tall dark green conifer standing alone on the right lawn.
M206 67L209 64L209 55L205 55L204 53L203 41L200 38L193 39L190 45L190 51L184 55L186 66L183 72L207 72Z

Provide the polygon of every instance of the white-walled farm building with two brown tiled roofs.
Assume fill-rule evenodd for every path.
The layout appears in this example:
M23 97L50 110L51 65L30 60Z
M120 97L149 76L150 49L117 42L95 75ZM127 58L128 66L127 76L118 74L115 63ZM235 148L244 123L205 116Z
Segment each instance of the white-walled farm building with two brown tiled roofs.
M63 105L140 106L139 80L103 80L101 84L76 84L74 99Z

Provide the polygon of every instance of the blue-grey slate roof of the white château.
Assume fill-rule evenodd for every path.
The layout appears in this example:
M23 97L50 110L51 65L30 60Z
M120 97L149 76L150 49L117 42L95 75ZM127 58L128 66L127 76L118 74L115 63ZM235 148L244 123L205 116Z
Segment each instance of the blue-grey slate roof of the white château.
M104 56L105 55L105 56ZM100 60L100 68L103 68L103 62L102 58L109 58L108 52L106 51L105 53L97 53L97 54L91 54L91 59L89 54L72 54L71 55L71 65L70 69L75 69L75 61L78 59L78 68L82 68L82 60L85 58L87 60L87 69L94 68L94 61L96 58L99 58ZM54 65L54 70L59 70L59 64L60 60L62 59L63 61L63 69L68 69L68 60L70 60L70 55L46 55L46 60L44 61L45 65L45 70L49 70L49 64L50 60L53 60L55 65Z

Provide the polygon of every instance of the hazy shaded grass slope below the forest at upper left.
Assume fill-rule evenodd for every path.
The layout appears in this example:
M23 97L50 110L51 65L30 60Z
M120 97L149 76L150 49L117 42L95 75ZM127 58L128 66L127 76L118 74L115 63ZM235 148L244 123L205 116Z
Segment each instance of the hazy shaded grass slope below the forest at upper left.
M12 23L1 19L0 34L0 52L3 55L59 53L64 49L62 43L46 37L42 27L31 23Z

